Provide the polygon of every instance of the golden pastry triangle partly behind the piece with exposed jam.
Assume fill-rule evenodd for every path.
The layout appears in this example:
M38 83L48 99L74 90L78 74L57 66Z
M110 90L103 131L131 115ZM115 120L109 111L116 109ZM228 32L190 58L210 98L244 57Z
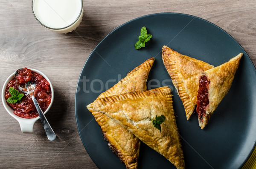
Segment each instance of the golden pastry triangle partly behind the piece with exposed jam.
M162 57L163 63L172 78L172 83L183 102L186 118L189 120L196 106L197 75L200 72L214 68L214 66L175 52L167 46L162 48Z

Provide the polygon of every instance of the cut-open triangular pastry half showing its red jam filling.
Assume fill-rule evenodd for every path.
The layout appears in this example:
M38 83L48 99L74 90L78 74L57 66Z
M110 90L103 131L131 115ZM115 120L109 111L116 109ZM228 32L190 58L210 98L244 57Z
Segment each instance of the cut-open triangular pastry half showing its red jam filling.
M198 75L197 86L200 87L196 111L201 129L204 129L218 104L227 95L242 55L240 53L228 62Z

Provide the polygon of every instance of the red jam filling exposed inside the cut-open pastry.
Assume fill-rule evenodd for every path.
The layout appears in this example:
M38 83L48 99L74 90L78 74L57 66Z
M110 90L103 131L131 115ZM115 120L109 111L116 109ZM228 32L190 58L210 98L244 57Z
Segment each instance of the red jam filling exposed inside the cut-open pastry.
M203 120L203 117L205 116L206 113L206 107L209 104L209 98L208 98L208 86L209 86L209 81L207 77L201 76L199 80L199 89L198 89L198 95L197 95L197 106L196 106L196 112L198 113L198 118L200 120Z

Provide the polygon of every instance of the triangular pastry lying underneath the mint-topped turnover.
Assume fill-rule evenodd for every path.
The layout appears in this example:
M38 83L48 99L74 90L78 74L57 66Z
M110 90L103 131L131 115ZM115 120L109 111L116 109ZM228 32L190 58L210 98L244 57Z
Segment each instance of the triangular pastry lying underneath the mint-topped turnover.
M99 95L98 98L146 90L148 73L153 63L154 58L151 57L129 72L125 78L113 87ZM108 141L108 146L112 152L118 155L121 161L125 163L127 169L137 169L140 140L108 116L91 109L89 110L92 112L99 126L101 126L103 136Z

